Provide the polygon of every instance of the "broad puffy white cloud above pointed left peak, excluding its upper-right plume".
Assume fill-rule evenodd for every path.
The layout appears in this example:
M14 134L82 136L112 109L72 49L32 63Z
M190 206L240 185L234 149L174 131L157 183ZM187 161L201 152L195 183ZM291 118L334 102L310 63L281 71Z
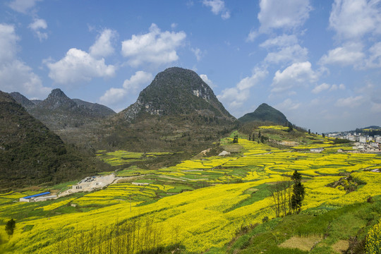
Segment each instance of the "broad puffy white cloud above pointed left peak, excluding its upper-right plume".
M69 49L63 59L47 63L49 78L54 82L68 85L90 81L95 77L111 77L115 74L113 65L106 65L104 59L95 59L80 49Z

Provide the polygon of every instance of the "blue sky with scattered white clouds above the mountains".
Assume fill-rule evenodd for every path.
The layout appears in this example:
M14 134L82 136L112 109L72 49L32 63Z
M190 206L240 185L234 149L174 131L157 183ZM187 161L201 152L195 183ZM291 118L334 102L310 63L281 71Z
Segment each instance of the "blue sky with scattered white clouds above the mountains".
M381 126L381 0L5 0L0 90L121 111L188 68L236 118L267 103L313 132Z

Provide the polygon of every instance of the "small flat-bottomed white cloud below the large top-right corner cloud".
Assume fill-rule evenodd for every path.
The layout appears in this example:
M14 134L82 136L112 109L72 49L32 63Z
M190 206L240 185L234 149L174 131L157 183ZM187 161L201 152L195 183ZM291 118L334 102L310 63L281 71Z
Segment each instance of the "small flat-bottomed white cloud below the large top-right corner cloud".
M353 65L360 67L363 65L365 54L362 52L363 44L349 42L342 47L329 50L328 54L322 56L320 64L339 64L341 66Z

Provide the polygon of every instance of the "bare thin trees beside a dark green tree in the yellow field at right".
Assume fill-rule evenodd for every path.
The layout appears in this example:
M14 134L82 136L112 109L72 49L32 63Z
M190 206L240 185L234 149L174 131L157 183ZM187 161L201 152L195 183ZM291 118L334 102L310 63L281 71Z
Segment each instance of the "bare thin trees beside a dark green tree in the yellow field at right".
M291 181L284 176L282 181L274 184L271 188L271 195L274 201L274 211L277 217L284 217L287 214L297 214L301 211L302 201L306 190L301 183L301 174L294 171Z

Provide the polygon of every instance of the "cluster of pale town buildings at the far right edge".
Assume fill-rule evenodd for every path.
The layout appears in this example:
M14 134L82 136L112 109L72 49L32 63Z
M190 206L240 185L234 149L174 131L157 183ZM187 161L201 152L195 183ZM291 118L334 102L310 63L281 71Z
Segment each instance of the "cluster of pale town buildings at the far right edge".
M381 135L362 135L361 133L329 133L330 138L353 141L353 149L361 152L381 152Z

